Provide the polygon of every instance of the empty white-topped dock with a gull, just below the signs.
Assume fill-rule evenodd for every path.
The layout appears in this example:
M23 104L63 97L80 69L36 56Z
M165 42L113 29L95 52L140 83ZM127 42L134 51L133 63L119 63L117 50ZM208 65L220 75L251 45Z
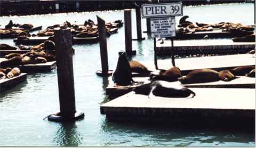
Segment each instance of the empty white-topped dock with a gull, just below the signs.
M193 55L193 54L243 54L255 48L255 42L233 42L231 39L190 39L164 40L164 44L156 42L156 55Z

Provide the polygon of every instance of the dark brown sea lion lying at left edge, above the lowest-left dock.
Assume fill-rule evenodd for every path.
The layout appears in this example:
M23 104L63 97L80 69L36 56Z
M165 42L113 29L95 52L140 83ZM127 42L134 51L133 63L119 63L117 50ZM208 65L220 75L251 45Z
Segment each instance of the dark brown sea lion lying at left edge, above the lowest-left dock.
M18 65L22 64L22 56L14 56L9 60L0 62L0 68L7 68L7 67L18 67Z

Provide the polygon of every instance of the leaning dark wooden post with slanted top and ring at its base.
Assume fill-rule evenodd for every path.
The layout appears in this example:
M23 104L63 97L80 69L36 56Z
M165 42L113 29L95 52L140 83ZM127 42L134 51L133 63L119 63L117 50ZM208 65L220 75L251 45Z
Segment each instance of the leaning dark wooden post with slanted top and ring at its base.
M108 70L108 48L106 40L106 27L105 21L97 16L99 40L100 40L100 58L101 58L101 71L97 71L99 76L111 75L112 71Z

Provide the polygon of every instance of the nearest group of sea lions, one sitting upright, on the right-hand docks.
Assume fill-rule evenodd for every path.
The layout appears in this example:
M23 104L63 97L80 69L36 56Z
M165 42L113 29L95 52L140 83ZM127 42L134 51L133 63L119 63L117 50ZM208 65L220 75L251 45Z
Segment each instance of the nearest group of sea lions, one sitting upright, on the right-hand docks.
M213 81L231 81L237 76L255 77L255 65L236 67L230 70L216 71L212 69L198 69L190 71L186 76L182 77L182 72L178 67L172 67L167 70L158 70L157 72L149 71L143 64L138 61L128 61L125 52L121 53L118 57L116 70L113 72L112 78L114 83L118 86L131 85L134 80L132 79L132 72L150 72L151 82L136 86L133 91L136 94L150 95L162 97L191 97L195 93L190 89L172 84L173 81L180 81L181 84L194 84L194 83L209 83Z

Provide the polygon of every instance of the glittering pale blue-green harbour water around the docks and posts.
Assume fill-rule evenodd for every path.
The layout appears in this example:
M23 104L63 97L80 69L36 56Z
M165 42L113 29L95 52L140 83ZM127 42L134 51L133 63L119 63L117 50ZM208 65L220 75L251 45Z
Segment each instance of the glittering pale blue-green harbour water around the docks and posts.
M123 18L123 11L61 13L0 17L0 23L33 23L43 26L66 20L83 23L87 19L96 22L96 15L106 22ZM218 23L222 21L253 24L253 4L221 4L184 7L187 20ZM135 11L132 11L135 19ZM180 17L176 18L178 23ZM142 30L146 20L142 19ZM132 22L133 38L136 38L135 20ZM133 41L138 61L154 60L153 39L146 36L142 42ZM12 39L0 43L14 45ZM124 27L107 39L109 69L115 69L117 52L124 50ZM33 73L27 81L0 94L0 146L254 146L254 131L183 129L106 121L100 114L100 103L107 100L105 89L111 78L95 75L101 69L99 44L73 45L75 55L74 81L76 109L85 118L71 124L42 120L50 113L59 111L57 70Z

